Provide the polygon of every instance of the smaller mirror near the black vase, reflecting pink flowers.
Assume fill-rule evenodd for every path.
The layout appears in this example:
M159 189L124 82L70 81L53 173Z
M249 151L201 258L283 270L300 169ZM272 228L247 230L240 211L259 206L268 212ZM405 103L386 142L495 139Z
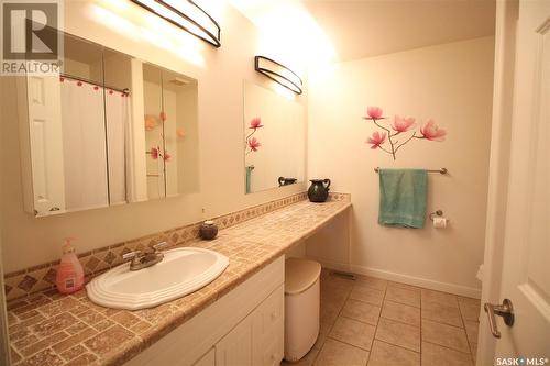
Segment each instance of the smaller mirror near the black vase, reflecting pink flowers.
M244 82L245 192L301 182L306 169L306 119L297 101Z

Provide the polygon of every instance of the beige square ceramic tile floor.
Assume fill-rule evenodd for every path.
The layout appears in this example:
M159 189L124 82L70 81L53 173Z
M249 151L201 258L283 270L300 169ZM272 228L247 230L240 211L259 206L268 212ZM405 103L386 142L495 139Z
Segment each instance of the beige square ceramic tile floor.
M321 274L321 326L294 366L473 366L480 301L358 276Z

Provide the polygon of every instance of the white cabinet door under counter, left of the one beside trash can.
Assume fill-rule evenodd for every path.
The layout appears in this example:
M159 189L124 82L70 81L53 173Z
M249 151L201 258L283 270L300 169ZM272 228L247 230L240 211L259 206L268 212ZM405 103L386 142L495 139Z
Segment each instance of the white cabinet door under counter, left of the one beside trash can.
M216 366L256 366L254 317L246 317L216 345Z

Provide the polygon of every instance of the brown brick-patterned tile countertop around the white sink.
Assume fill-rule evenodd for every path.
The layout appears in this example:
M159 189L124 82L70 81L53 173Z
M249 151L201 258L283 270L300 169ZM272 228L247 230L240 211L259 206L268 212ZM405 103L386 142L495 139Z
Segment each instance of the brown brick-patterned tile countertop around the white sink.
M122 365L350 207L349 201L300 201L221 230L213 241L186 243L227 255L229 267L202 289L156 308L103 308L86 290L13 300L8 303L12 363Z

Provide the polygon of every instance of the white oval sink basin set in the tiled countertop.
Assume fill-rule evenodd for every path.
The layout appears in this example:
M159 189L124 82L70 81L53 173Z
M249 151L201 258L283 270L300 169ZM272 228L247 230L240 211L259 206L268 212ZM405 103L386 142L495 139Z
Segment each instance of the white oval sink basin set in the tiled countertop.
M219 253L196 247L164 252L164 259L148 268L130 270L125 263L92 279L91 301L108 308L138 310L155 307L207 286L229 265Z

